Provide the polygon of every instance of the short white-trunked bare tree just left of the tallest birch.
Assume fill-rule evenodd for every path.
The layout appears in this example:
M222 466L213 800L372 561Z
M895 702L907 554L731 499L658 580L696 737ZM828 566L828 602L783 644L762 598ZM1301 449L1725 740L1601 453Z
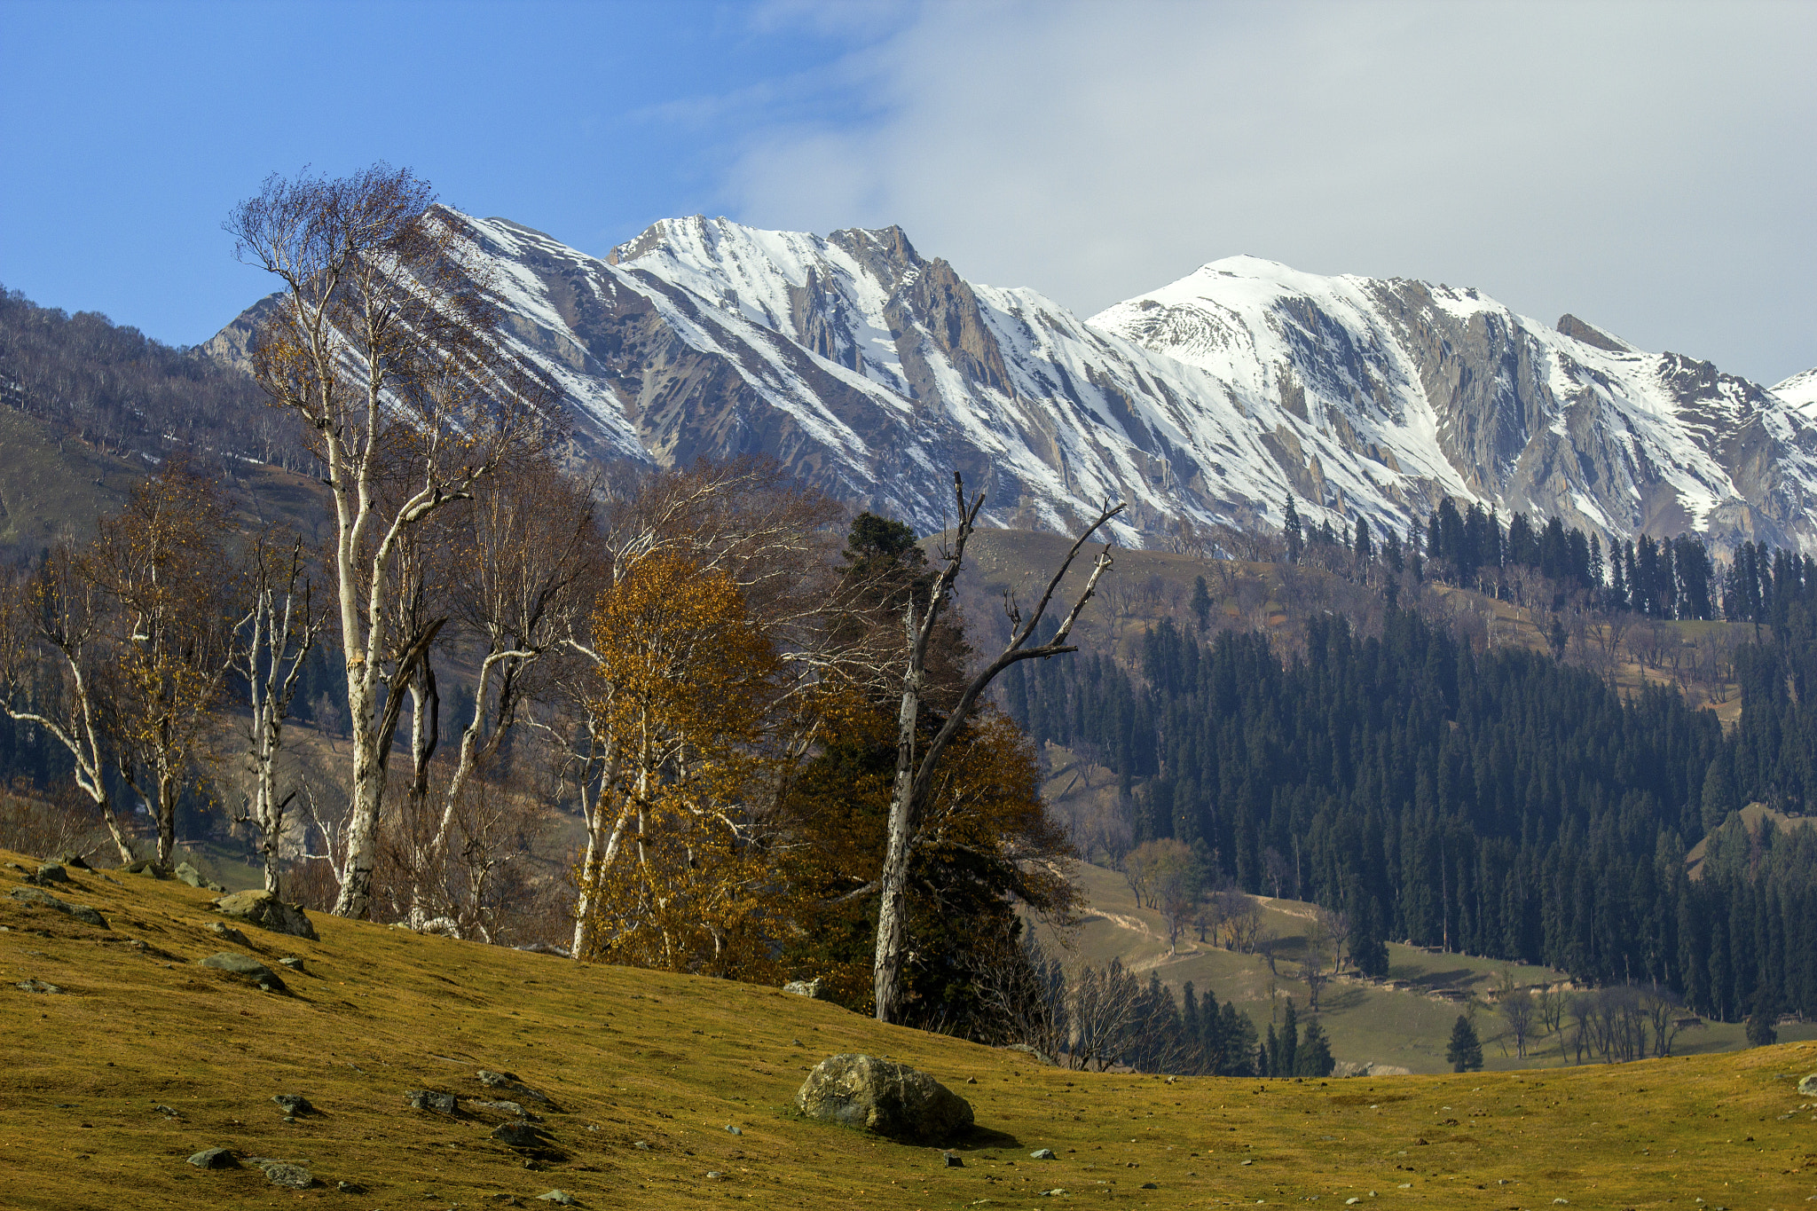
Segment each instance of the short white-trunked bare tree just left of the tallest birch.
M303 541L296 536L260 534L247 556L251 608L236 626L234 668L245 679L249 715L245 764L253 781L243 821L258 830L265 866L265 890L280 891L283 881L283 813L296 797L278 795L278 753L283 723L302 681L303 661L314 648L327 615L316 606Z

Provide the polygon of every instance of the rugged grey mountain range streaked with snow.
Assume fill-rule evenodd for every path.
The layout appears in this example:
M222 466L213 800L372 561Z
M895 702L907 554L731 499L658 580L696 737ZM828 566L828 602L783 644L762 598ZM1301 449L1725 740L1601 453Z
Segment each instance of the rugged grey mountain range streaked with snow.
M1405 528L1441 496L1606 536L1817 550L1817 372L1768 392L1475 290L1230 258L1079 320L974 285L896 227L830 236L663 220L605 260L465 218L507 340L594 456L769 454L932 530L952 470L998 525L1123 541L1181 523ZM251 312L249 312L251 314ZM211 349L243 347L242 316Z

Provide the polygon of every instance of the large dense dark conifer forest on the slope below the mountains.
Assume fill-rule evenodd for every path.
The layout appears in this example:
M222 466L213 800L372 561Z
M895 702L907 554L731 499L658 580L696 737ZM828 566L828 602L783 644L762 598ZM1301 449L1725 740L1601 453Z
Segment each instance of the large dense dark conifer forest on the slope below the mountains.
M1397 608L1379 637L1312 619L1292 665L1263 635L1201 643L1163 619L1134 670L1043 663L1012 672L1005 701L1038 741L1119 775L1134 841L1177 839L1248 891L1276 870L1341 910L1365 971L1405 939L1659 986L1724 1020L1764 1002L1813 1013L1817 830L1737 821L1713 842L1723 861L1699 879L1684 862L1743 804L1804 812L1817 795L1801 601L1739 661L1732 735L1675 692L1623 701L1586 670L1479 654Z

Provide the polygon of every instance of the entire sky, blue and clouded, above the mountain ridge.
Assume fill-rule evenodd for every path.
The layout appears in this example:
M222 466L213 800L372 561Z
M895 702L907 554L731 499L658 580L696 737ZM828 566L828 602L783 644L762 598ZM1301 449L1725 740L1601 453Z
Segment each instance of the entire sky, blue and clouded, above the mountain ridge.
M1817 365L1817 5L0 0L0 281L205 340L220 220L387 160L603 254L901 223L1090 314L1250 252Z

